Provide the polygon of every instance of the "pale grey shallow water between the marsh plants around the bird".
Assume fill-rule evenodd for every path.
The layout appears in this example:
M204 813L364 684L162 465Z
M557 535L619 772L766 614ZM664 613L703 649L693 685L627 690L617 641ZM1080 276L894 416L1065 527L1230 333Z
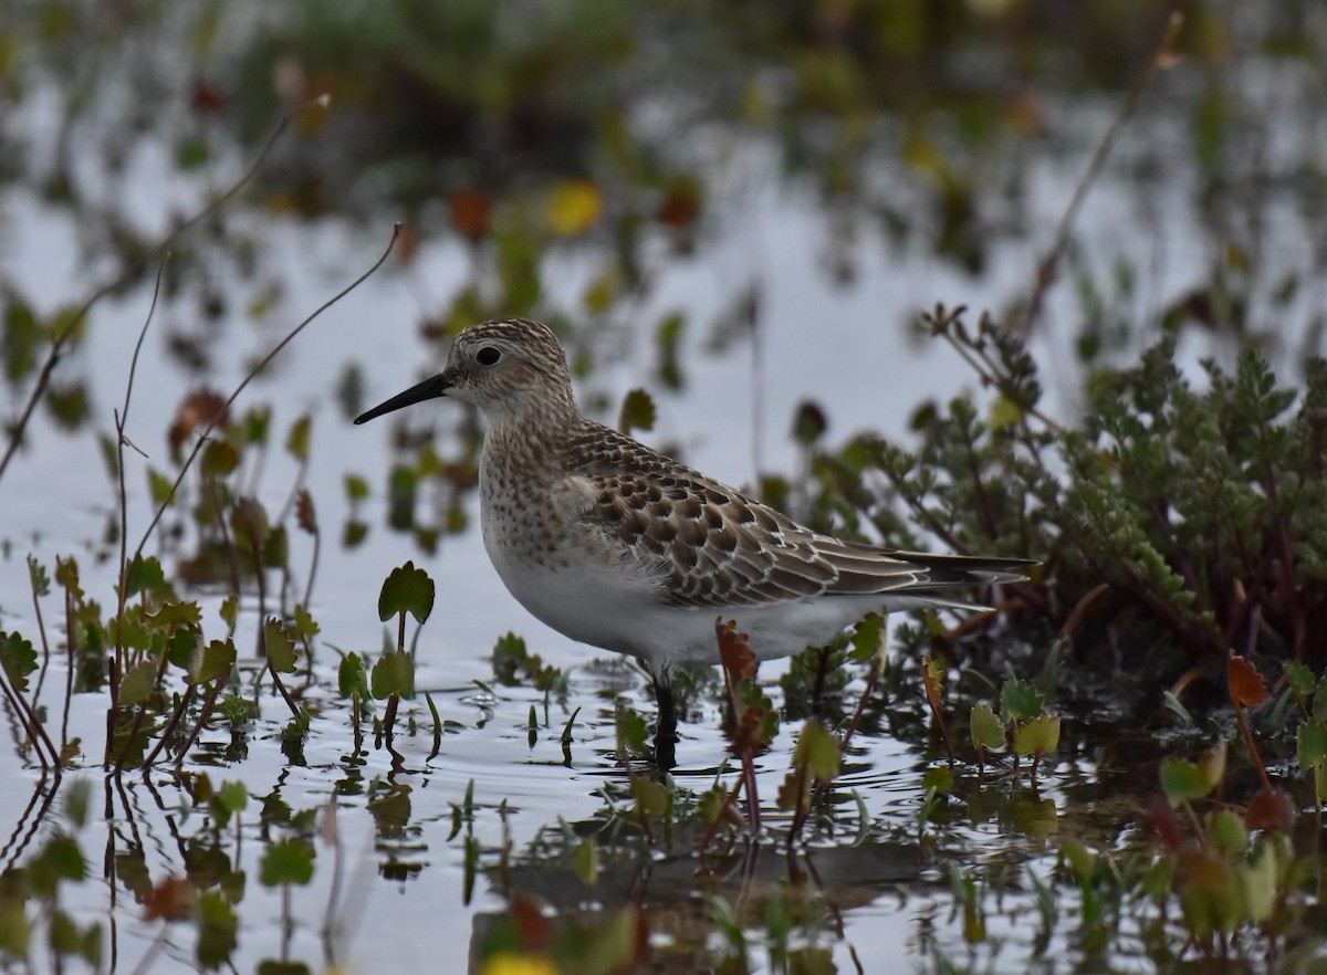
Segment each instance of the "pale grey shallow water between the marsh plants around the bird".
M50 93L25 102L29 117L20 122L33 145L50 139L58 122L57 101ZM804 183L783 178L770 145L759 138L742 142L730 172L738 191L717 207L721 216L707 228L703 247L690 257L666 261L632 314L602 329L596 340L604 349L598 366L580 382L583 401L602 402L596 414L612 422L622 394L646 386L656 395L658 422L642 439L678 448L687 463L723 480L751 484L759 475L796 471L802 464L788 427L803 401L824 409L829 440L864 428L906 440L909 414L920 402L983 397L975 377L947 348L918 341L908 326L920 308L936 301L1002 309L1026 294L1091 139L1109 123L1113 105L1084 99L1052 103L1048 111L1052 118L1076 115L1082 130L1091 133L1088 143L1068 158L1027 161L1024 194L1034 226L1005 240L979 276L938 261L925 247L894 247L884 235L863 233L848 248L859 269L855 281L835 284L827 255L837 243L837 226L820 198ZM1153 131L1140 133L1139 145ZM1129 149L1127 143L1127 158ZM1285 151L1279 143L1278 149ZM242 155L235 151L220 168L238 171ZM121 182L142 226L159 228L179 208L196 204L206 180L180 175L166 146L143 139L135 143ZM1079 220L1080 247L1092 260L1108 264L1123 253L1137 261L1141 280L1132 296L1143 306L1140 318L1153 317L1206 280L1212 252L1220 249L1205 239L1202 222L1188 203L1193 188L1185 175L1173 172L1161 182L1166 191L1140 202L1128 170L1115 172L1089 196ZM1152 212L1140 233L1135 218L1156 198L1164 199L1161 212ZM32 187L8 188L0 206L11 239L0 251L0 267L8 279L24 283L41 310L68 302L84 293L89 280L100 280L104 269L90 267L97 261L80 253L77 218L40 202ZM1281 259L1298 264L1308 249L1306 218L1279 207L1271 215L1286 228L1274 235L1282 241ZM137 540L150 516L146 466L169 467L163 432L178 403L199 382L231 389L285 329L369 267L386 245L395 215L384 212L368 226L338 216L300 224L259 207L240 207L232 219L260 239L263 277L279 281L280 294L264 314L231 314L200 341L210 359L202 371L182 366L167 340L210 332L212 326L196 317L196 296L186 288L158 309L127 426L130 439L150 458L127 454L130 539ZM541 306L575 318L597 271L596 259L592 248L568 248L549 257L541 275ZM272 406L273 430L280 431L275 444L300 413L314 418L307 484L324 527L324 547L309 609L321 635L316 681L304 698L317 706L316 715L297 757L281 749L280 732L288 719L281 699L265 684L257 694L249 690L257 662L248 641L259 623L252 593L245 593L236 642L243 694L253 699L255 720L239 735L214 723L179 768L163 763L143 775L104 775L106 695L98 690L73 700L69 736L82 742L82 752L57 783L36 769L13 711L4 708L11 744L0 759L5 772L0 824L15 826L12 833L4 830L0 868L31 862L58 834L76 837L88 878L62 885L58 903L80 926L102 930L98 970L200 967L198 926L149 921L142 906L154 885L184 874L200 889L243 890L242 897L232 897L239 925L228 964L236 971L275 971L263 967L273 959L292 966L283 971L295 966L476 971L484 938L510 918L522 897L536 898L541 910L564 923L597 923L629 903L648 906L649 943L661 971L710 970L734 954L714 923L717 903L727 905L738 918L748 939L751 971L787 970L771 934L780 917L795 918L788 944L802 951L796 964L803 967L794 966L794 971L949 971L950 964L997 972L1164 967L1153 950L1154 935L1148 942L1143 931L1151 922L1137 906L1131 906L1136 914L1125 913L1109 951L1084 943L1079 894L1062 866L1066 840L1121 857L1145 845L1161 752L1147 736L1131 748L1137 743L1129 728L1120 727L1127 715L1105 707L1067 715L1062 747L1043 761L1035 787L1026 768L1015 779L1007 763L997 763L981 777L970 755L962 755L949 797L941 795L930 808L924 776L946 763L916 674L908 670L901 690L878 704L878 730L853 740L843 773L816 812L809 842L796 856L786 856L779 842L788 816L775 808L774 797L790 767L800 722L786 722L772 748L758 759L766 821L759 841L725 837L702 857L693 853L695 837L682 834L681 828L671 844L664 836L646 842L621 817L614 818L614 809L629 805L629 780L616 747L617 707L650 712L644 679L616 661L601 663L600 651L551 633L515 604L472 531L472 495L460 499L471 529L442 536L437 553L425 553L407 532L389 528L385 472L393 458L394 423L353 427L354 411L337 398L348 363L362 369L365 405L437 367L437 348L419 338L418 324L467 283L471 260L466 245L454 239L426 240L409 263L393 259L317 318L239 403ZM234 289L238 305L260 291L261 281L244 279L220 259L216 273L223 289ZM738 341L710 352L709 322L747 288L759 296L758 345ZM1051 325L1043 329L1038 352L1054 366L1047 409L1072 414L1079 389L1072 333L1068 325L1055 326L1079 313L1066 291L1050 296L1046 320ZM1306 287L1282 313L1290 317L1312 298L1312 287ZM111 428L133 338L150 302L150 287L139 284L100 304L86 341L61 366L90 378L94 430ZM652 334L654 322L673 309L686 312L693 322L681 356L686 382L675 391L657 378ZM1216 345L1222 353L1220 340ZM1208 352L1210 346L1190 342L1185 356L1196 359ZM21 399L15 390L11 410ZM443 440L460 423L449 403L413 413L414 424L431 419ZM255 487L271 509L284 503L295 470L273 447ZM341 487L348 472L365 476L372 488L356 513ZM113 548L105 543L105 529L113 499L94 432L65 432L38 413L24 452L0 482L5 541L0 627L35 631L28 553L46 565L56 556L77 554L85 588L110 604L114 560L106 561ZM431 500L421 497L421 513ZM368 535L349 548L338 536L352 517L364 520ZM158 537L147 551L162 545L171 572L191 543L186 535L173 548ZM295 533L296 588L303 586L309 558L309 540ZM418 694L398 715L394 744L399 759L393 759L374 742L372 723L356 747L346 703L336 694L336 661L338 653L372 655L390 642L377 617L378 588L407 558L435 580L438 602L418 638ZM208 631L219 629L220 597L198 598ZM44 612L56 633L56 608L48 604ZM565 699L549 700L532 687L495 682L488 654L508 631L522 634L531 653L567 670ZM776 681L787 666L778 662L760 673L776 704L782 698ZM48 714L60 711L62 687L57 653L41 698ZM859 673L845 699L855 700L861 687ZM443 722L437 746L425 692ZM533 743L532 707L537 718ZM576 708L564 751L560 735ZM374 714L381 716L381 708ZM954 704L949 718L961 727L966 710ZM682 728L681 765L673 772L678 796L703 792L717 780L734 781L721 720L722 706L713 695L702 696ZM249 801L238 825L214 830L206 807L194 808L182 783L196 788L204 773L214 785L242 781L247 787ZM644 763L637 763L637 773L648 775ZM92 814L74 830L61 808L84 785L90 791ZM455 811L471 789L472 817L458 821ZM924 808L929 809L925 822L920 821ZM329 830L336 842L326 838ZM273 841L292 836L311 837L316 850L311 881L288 891L264 886L264 856ZM585 836L598 837L594 886L584 883L575 864ZM476 857L467 860L467 849ZM981 938L965 937L955 877L977 883L985 923ZM1046 914L1034 877L1047 885L1058 913L1044 939ZM1172 931L1172 947L1178 951L1174 942ZM33 947L28 958L33 970L61 967L44 947ZM740 970L734 963L726 971Z

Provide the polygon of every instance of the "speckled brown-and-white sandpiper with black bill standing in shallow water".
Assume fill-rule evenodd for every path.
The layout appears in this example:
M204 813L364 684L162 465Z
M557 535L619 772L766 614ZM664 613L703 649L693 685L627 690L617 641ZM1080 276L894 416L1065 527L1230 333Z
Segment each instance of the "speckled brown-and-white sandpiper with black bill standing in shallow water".
M675 764L678 667L718 663L731 617L760 659L820 646L869 613L975 609L966 589L1035 561L905 552L815 532L584 417L557 337L529 318L460 332L442 371L356 418L437 397L486 421L484 549L511 594L573 641L636 657L658 707L656 763Z

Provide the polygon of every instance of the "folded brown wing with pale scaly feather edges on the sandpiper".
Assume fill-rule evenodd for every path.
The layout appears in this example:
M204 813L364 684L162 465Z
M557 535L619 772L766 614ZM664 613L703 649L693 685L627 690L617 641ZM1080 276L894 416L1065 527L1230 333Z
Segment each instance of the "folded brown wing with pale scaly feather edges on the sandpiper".
M587 430L572 446L568 474L588 482L585 496L593 497L580 517L660 578L674 605L930 588L918 562L816 535L616 431Z

